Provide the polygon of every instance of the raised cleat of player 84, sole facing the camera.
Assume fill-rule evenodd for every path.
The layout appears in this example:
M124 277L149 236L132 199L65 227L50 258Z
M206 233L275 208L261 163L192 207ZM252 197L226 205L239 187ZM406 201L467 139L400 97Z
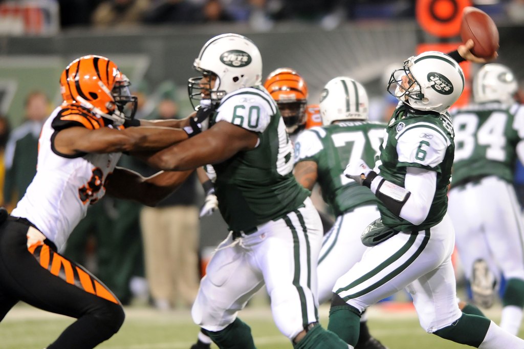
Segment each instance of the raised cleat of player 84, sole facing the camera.
M490 308L495 299L495 277L484 259L477 259L473 263L471 291L473 301L478 306Z

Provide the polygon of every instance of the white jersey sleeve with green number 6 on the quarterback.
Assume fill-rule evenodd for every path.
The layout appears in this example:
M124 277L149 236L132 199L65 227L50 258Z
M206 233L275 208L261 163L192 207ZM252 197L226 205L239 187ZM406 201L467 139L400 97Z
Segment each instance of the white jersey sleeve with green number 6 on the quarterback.
M417 123L397 134L398 162L435 168L446 154L450 140L431 124Z

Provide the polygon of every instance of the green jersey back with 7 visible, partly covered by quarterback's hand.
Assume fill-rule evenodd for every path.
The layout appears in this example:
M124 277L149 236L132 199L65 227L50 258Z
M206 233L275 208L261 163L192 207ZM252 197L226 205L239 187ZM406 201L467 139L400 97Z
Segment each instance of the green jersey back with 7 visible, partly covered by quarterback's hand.
M364 159L373 167L384 138L384 123L346 121L302 132L295 143L294 162L314 161L324 201L337 216L361 205L377 204L366 187L344 176L350 161Z

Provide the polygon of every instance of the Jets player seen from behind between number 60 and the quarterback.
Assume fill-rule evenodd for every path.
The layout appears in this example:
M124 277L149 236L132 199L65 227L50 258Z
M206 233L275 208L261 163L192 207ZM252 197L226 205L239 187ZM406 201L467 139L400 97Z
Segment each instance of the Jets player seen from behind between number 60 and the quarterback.
M360 240L369 222L380 217L377 198L343 176L351 159L375 163L385 124L368 121L368 97L361 83L346 77L330 80L320 99L322 127L302 132L295 143L294 176L304 188L320 184L324 201L336 215L320 250L319 302L331 299L335 281L362 258ZM385 348L370 336L365 317L355 348Z

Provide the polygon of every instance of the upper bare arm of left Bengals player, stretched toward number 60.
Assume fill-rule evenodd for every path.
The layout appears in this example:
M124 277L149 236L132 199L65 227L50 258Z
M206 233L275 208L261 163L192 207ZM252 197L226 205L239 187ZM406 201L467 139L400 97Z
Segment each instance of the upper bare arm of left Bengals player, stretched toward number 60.
M187 138L184 130L170 127L140 126L124 130L70 127L57 133L54 147L65 155L158 150Z

